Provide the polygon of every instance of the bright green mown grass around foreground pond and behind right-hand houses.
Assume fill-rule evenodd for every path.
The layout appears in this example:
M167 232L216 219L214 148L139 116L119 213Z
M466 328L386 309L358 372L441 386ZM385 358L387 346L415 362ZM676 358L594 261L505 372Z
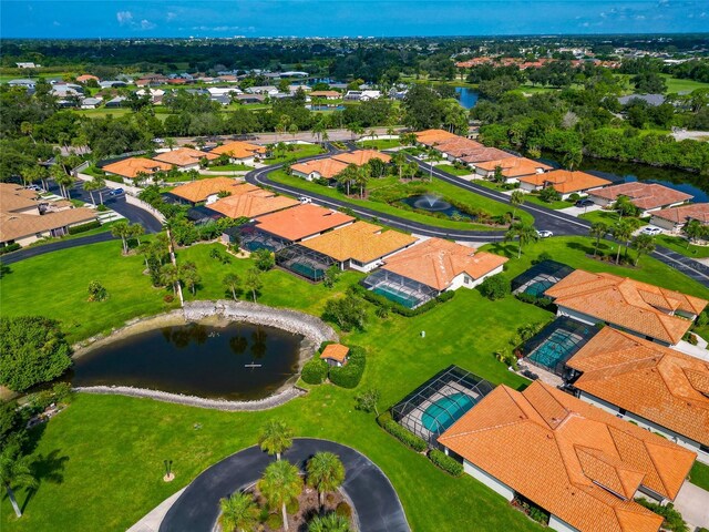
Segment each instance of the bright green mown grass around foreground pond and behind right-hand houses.
M613 244L603 246L608 250ZM117 242L95 244L11 265L0 291L3 314L32 311L58 318L71 339L78 340L135 316L172 308L162 300L167 291L151 288L142 275L141 257L123 257L120 247ZM249 259L236 258L223 265L209 257L213 248L224 250L218 244L199 244L177 252L179 262L195 262L203 278L196 298L224 297L224 275L243 274L251 266ZM513 243L486 248L516 257ZM707 288L648 257L640 268L593 260L586 256L590 241L584 237L548 238L530 245L521 259L507 263L505 275L517 275L543 252L574 267L650 283L662 279L668 288L709 297ZM94 278L109 289L107 301L85 300L85 287ZM328 289L271 270L264 275L259 300L319 315L328 298L338 297L360 278L361 274L348 272ZM520 326L553 318L551 313L511 296L490 301L476 290L464 289L451 301L414 318L391 315L379 319L373 311L368 306L364 331L343 335L343 340L368 350L361 387L377 387L382 407L393 405L450 364L493 382L524 386L524 379L507 371L492 354L507 345ZM427 331L425 338L421 330ZM65 412L33 432L40 487L30 497L19 493L25 510L21 520L3 499L0 528L10 532L125 530L209 464L254 444L258 427L278 417L288 420L297 436L333 439L371 458L391 479L412 530L470 530L472 522L476 531L541 530L472 478L453 479L405 449L384 433L372 416L353 409L353 390L328 385L275 410L229 413L147 399L80 395ZM172 484L161 480L165 459L174 460L177 477Z

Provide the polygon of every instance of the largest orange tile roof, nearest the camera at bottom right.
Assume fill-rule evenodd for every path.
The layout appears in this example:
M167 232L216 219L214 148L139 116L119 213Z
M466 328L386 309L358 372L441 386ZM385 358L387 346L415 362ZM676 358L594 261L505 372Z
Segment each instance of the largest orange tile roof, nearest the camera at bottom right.
M541 381L499 386L439 442L583 532L657 532L662 518L633 495L674 500L696 458Z

